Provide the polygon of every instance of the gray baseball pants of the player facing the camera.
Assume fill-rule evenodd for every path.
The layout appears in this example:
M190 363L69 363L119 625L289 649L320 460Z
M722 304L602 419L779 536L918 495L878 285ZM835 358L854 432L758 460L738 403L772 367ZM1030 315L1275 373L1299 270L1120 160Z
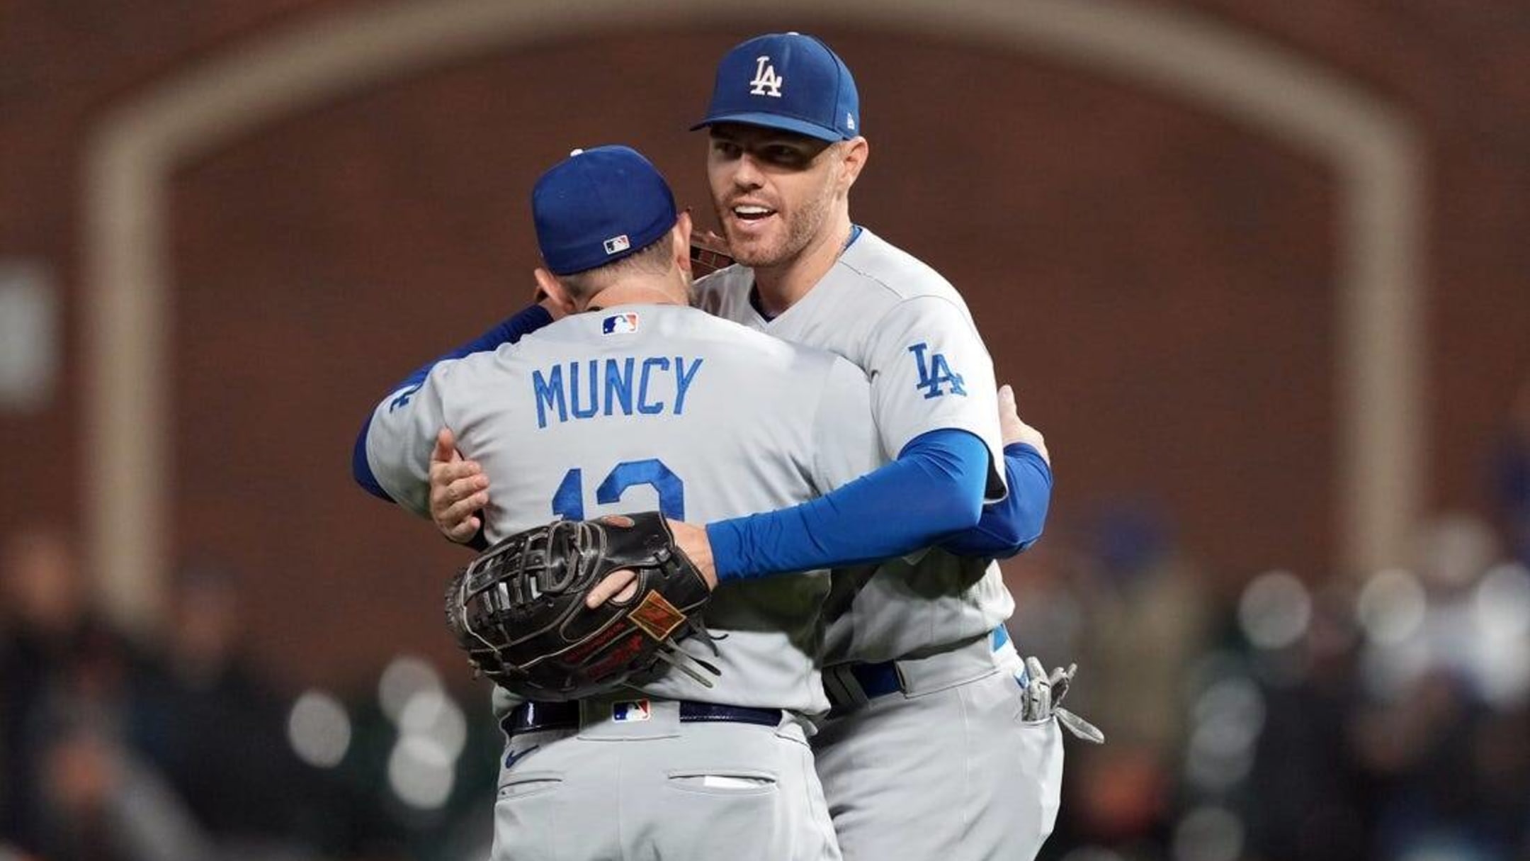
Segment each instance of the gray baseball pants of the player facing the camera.
M1062 732L1021 720L1014 647L895 663L900 689L869 699L848 668L825 669L852 705L812 738L845 859L1036 858L1057 821Z

